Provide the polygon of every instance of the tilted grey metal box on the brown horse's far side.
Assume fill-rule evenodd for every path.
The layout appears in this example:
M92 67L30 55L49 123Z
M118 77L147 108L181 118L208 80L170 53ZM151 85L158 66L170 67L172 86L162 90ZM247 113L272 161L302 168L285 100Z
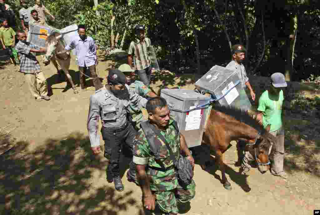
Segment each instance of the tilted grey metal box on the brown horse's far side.
M235 85L236 87L232 88ZM213 66L196 81L195 86L201 93L210 93L213 99L219 99L225 95L218 100L220 105L235 106L244 111L251 109L251 103L241 86L239 76L235 71L223 66Z

